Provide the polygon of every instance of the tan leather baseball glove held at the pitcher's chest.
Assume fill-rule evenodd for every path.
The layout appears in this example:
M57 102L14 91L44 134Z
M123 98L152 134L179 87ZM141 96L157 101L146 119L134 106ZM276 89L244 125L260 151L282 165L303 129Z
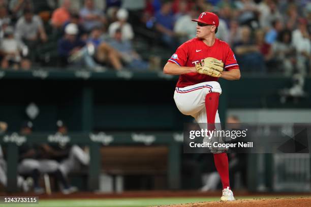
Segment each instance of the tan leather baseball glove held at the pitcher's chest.
M224 71L224 63L219 59L206 57L202 62L196 64L196 69L199 74L219 78Z

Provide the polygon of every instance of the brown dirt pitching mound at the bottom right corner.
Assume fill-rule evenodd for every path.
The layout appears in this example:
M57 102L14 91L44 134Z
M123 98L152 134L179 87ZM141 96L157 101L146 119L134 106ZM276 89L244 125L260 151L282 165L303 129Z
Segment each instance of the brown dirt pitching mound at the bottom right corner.
M177 205L161 205L161 207L309 207L311 197L308 198L262 198L262 199L237 199L229 202L197 202Z

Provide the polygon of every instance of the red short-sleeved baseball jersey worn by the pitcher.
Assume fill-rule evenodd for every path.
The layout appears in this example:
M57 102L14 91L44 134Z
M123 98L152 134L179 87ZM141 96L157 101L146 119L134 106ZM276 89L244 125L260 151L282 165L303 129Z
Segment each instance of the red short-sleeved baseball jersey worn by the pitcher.
M239 69L239 65L230 46L226 42L219 39L215 39L215 43L211 47L207 46L199 38L191 39L180 45L168 61L176 63L179 66L192 67L206 57L214 57L222 60L224 62L225 70L227 71ZM176 86L183 88L202 82L217 80L218 78L203 74L188 73L179 76Z

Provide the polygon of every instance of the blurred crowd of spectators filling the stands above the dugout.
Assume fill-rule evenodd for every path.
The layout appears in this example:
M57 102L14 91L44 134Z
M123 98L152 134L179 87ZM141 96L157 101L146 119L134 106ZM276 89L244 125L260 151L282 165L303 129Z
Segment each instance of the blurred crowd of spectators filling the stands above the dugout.
M1 66L159 69L203 11L219 15L216 37L243 72L311 73L307 0L2 0Z

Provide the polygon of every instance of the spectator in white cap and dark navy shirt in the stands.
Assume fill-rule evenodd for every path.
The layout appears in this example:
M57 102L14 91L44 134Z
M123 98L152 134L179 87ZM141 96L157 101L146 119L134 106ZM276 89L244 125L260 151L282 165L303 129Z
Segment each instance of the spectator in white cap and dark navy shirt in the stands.
M58 41L58 54L61 66L67 66L69 63L68 58L85 46L85 42L77 37L78 32L78 26L70 23L65 28L64 37Z

